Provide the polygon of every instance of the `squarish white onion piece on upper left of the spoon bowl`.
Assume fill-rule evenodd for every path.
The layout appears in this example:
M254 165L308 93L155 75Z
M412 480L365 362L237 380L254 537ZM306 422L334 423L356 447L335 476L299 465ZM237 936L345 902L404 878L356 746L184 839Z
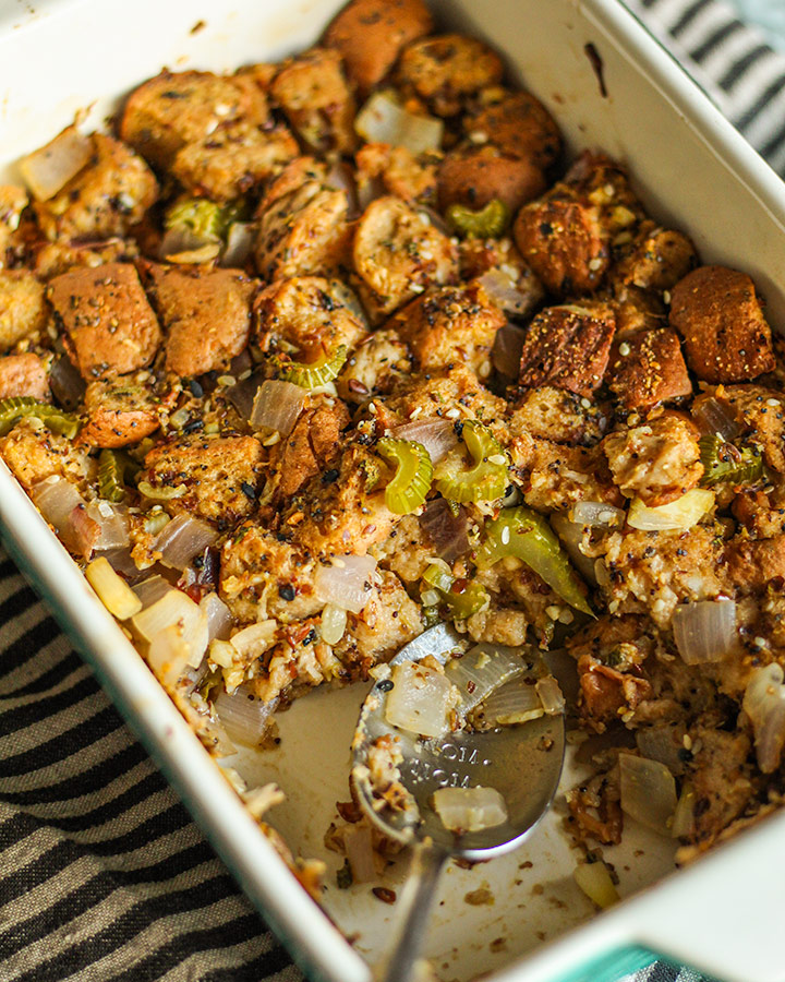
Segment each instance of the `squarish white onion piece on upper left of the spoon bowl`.
M455 702L449 679L436 669L413 661L397 664L391 674L385 719L392 727L439 736L447 729L447 714Z

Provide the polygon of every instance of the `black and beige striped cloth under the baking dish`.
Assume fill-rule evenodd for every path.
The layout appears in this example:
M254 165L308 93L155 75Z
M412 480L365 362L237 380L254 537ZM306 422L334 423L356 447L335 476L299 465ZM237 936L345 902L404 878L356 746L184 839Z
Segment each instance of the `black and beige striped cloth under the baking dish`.
M785 173L785 55L724 0L627 4ZM301 979L0 550L0 982Z

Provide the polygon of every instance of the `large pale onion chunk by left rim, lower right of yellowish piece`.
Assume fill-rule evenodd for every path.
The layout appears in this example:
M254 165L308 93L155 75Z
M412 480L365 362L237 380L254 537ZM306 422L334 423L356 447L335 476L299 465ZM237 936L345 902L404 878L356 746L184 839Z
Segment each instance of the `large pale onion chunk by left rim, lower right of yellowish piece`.
M182 660L195 668L207 649L207 618L198 604L182 590L169 590L155 603L137 613L131 623L134 630L149 642L150 650L153 643L157 643L155 654L148 656L156 671L154 662L166 658L171 658L173 663ZM174 632L169 631L166 638L158 637L170 627L176 628ZM179 636L177 644L176 634ZM168 671L166 673L168 674Z

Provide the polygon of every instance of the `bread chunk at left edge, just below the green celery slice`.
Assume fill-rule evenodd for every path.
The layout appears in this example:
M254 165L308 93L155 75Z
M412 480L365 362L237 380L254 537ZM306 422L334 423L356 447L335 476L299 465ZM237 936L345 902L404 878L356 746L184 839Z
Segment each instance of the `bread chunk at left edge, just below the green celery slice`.
M48 477L64 477L75 484L96 476L96 462L85 447L52 433L39 419L21 419L0 440L0 456L19 482L29 491Z

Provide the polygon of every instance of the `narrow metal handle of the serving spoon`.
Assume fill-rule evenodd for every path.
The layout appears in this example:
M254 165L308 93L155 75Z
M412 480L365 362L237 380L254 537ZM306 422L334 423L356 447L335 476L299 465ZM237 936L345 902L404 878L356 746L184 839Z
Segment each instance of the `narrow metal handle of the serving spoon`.
M374 971L375 982L413 982L431 901L446 860L445 850L433 842L418 842L414 847L401 893L398 925L387 955Z

